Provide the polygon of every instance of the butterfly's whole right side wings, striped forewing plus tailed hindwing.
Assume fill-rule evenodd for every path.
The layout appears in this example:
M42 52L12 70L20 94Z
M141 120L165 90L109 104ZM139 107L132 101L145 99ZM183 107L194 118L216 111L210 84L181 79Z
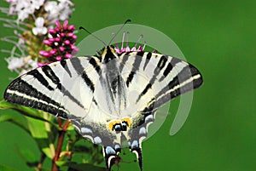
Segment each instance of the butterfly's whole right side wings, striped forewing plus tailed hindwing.
M142 169L141 144L147 137L148 125L154 122L155 111L180 94L199 88L202 77L195 66L163 54L131 52L121 54L119 59L128 101L131 102L125 109L131 112L132 118L126 136Z

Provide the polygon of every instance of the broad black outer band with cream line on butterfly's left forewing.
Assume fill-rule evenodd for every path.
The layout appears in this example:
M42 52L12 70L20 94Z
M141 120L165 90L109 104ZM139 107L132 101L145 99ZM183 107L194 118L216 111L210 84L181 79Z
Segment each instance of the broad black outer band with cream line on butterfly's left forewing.
M39 92L20 77L9 85L4 93L4 100L49 112L57 117L67 118L65 107Z

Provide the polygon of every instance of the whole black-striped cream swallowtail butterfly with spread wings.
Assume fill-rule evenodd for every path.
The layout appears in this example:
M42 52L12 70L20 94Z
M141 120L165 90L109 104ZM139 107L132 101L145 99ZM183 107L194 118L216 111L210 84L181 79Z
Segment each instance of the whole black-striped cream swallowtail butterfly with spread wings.
M9 84L4 100L71 120L79 134L103 146L108 171L126 142L143 170L142 141L156 110L201 84L200 71L183 60L107 45L101 55L28 71Z

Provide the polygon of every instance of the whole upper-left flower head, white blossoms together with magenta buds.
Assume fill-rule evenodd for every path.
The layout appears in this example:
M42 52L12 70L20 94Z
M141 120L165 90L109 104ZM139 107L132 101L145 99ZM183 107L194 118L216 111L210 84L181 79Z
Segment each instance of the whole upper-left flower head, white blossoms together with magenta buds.
M2 38L3 41L15 45L10 50L2 49L2 52L10 54L5 59L9 64L9 70L21 74L37 66L42 66L42 64L59 60L61 54L70 57L71 52L77 50L73 45L76 39L76 36L73 35L74 26L67 26L67 21L65 21L64 25L60 27L61 24L58 21L58 26L52 29L57 20L68 20L73 13L74 4L71 0L6 0L6 2L9 3L9 8L0 7L0 10L10 15L12 19L0 18L0 20L5 21L3 26L15 30L15 36ZM65 26L68 29L65 30ZM49 38L48 33L52 37ZM48 40L43 43L42 40L47 38ZM52 41L53 39L55 42ZM63 42L58 42L58 39ZM68 41L69 45L67 45ZM55 47L56 43L58 46ZM42 57L40 55L42 53L39 51L46 52L49 47L52 48L51 56L43 53Z

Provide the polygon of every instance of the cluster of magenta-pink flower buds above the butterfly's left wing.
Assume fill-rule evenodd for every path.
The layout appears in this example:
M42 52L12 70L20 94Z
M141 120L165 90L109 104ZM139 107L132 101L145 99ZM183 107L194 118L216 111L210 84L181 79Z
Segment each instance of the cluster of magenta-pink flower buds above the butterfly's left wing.
M56 21L55 24L56 27L48 31L49 39L44 39L44 44L50 47L49 51L39 51L39 54L48 58L49 62L71 58L78 52L78 48L73 44L77 39L77 36L73 34L75 27L68 26L67 20L64 21L63 26L59 21ZM43 65L43 63L39 63L39 66Z

